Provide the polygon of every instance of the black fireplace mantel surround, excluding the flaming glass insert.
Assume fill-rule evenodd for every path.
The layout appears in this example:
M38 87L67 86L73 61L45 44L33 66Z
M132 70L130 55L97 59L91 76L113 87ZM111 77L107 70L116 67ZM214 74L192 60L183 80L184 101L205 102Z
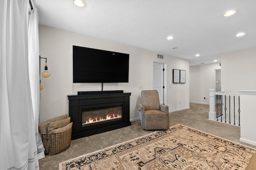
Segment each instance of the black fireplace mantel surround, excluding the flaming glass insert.
M73 122L71 139L95 135L98 133L130 126L130 95L120 91L84 92L81 95L68 95L69 116ZM103 107L122 106L122 119L82 127L82 110Z

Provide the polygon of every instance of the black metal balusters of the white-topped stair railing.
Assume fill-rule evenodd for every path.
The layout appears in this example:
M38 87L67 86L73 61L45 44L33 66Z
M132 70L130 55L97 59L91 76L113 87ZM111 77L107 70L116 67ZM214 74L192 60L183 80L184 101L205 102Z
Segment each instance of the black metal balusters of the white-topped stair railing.
M214 94L216 120L240 126L240 94Z

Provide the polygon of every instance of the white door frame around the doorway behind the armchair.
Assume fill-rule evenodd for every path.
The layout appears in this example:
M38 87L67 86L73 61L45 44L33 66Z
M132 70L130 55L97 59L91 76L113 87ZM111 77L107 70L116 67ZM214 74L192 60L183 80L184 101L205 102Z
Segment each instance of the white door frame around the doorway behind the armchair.
M152 89L154 89L154 63L163 64L164 65L164 104L168 105L168 92L167 92L167 72L168 72L168 66L167 63L161 62L161 61L152 61Z

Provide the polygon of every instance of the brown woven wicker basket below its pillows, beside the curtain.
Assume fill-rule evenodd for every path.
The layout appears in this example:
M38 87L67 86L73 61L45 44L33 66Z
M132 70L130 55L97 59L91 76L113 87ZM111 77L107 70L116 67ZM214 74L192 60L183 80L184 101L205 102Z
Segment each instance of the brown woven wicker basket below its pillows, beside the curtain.
M71 142L71 127L64 132L45 135L42 134L42 141L44 144L44 153L54 155L60 153L70 147Z

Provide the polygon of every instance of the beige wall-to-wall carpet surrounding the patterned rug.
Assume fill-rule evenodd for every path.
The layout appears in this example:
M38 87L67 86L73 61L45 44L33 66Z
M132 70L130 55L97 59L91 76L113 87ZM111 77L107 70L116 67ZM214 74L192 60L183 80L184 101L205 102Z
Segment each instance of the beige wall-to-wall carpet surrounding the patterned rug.
M228 123L220 123L208 119L209 105L190 103L190 109L170 113L170 126L186 125L248 147L256 149L256 146L241 142L240 127ZM124 143L154 131L143 130L140 120L132 121L132 125L113 131L100 133L71 141L70 147L56 155L46 155L39 160L40 170L58 170L59 163L76 158L83 154L89 154L97 150ZM252 131L254 133L254 131Z

